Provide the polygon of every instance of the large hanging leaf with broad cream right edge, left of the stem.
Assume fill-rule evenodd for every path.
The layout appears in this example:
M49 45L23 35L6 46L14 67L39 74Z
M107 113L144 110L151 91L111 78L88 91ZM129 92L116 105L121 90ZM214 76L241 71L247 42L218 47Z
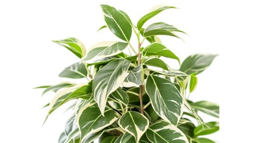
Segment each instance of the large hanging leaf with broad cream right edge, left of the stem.
M124 82L129 64L130 62L124 59L111 61L95 75L92 82L92 91L94 91L94 100L102 114L106 107L107 97Z

